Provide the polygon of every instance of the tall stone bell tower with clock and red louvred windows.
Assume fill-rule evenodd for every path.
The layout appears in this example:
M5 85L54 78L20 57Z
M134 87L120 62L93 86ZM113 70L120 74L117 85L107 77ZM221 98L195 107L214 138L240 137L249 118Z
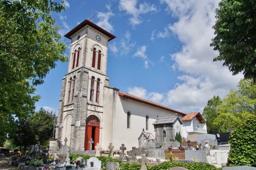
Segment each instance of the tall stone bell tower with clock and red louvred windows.
M64 37L71 40L71 45L55 138L62 144L66 141L71 151L93 150L101 140L103 89L109 84L108 42L116 37L89 20Z

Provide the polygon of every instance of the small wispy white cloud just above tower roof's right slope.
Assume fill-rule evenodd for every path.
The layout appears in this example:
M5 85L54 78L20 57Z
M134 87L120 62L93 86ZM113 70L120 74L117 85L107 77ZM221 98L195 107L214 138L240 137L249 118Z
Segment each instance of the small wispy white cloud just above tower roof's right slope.
M112 17L114 14L111 11L110 5L106 5L106 8L108 8L108 12L97 12L97 18L99 19L99 22L97 22L96 25L102 27L108 32L113 32L114 29L109 22L109 18Z

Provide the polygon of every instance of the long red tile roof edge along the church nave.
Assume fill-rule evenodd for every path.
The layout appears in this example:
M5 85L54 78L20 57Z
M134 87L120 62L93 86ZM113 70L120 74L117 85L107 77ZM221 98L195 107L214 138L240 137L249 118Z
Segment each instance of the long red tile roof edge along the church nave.
M185 116L185 115L186 115L185 113L182 113L182 112L180 112L180 111L176 111L176 110L174 110L174 109L172 109L172 108L168 108L168 107L166 107L166 106L164 106L164 105L160 105L160 104L158 104L158 103L151 102L151 101L149 101L149 100L142 99L142 98L140 98L140 97L133 96L133 95L131 95L131 94L124 93L124 92L122 92L122 91L118 91L118 94L119 94L119 96L126 97L126 98L128 98L128 99L132 99L132 100L137 101L137 102L142 102L142 103L145 103L145 104L147 104L147 105L151 105L151 106L155 106L155 107L157 107L157 108L165 109L165 110L167 110L167 111L172 111L172 112L175 112L175 113L179 113L179 114L181 114L182 116Z

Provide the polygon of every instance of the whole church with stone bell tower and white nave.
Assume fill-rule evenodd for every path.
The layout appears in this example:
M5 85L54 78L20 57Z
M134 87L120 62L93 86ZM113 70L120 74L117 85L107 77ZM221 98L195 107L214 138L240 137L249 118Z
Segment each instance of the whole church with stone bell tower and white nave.
M94 150L109 143L127 150L138 147L145 133L162 136L152 125L157 119L185 113L109 86L108 42L116 37L89 20L68 32L71 40L67 74L62 79L55 138L73 151ZM183 136L182 124L176 132ZM163 130L164 131L164 130ZM164 134L163 134L164 135ZM157 141L156 141L157 142Z

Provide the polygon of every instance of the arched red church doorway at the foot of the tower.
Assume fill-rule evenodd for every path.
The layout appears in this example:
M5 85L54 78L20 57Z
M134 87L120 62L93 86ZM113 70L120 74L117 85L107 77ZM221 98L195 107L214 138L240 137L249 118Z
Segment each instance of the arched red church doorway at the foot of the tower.
M95 146L99 143L99 127L100 122L97 116L90 115L86 119L84 150L95 150Z

